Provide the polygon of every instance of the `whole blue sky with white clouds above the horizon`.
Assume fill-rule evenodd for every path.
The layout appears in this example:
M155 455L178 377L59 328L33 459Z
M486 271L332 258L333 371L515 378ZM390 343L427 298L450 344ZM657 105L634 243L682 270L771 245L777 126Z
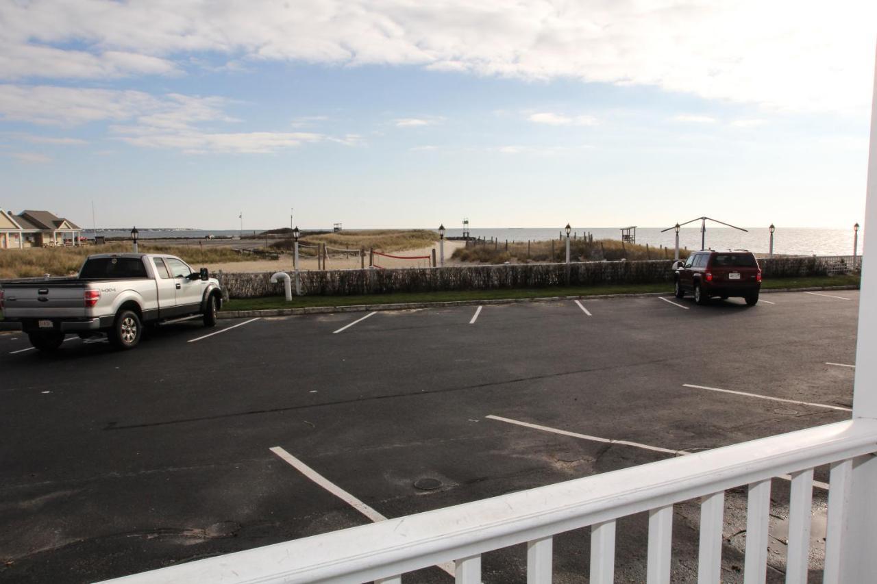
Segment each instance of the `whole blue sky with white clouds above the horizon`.
M877 3L0 0L0 208L846 227Z

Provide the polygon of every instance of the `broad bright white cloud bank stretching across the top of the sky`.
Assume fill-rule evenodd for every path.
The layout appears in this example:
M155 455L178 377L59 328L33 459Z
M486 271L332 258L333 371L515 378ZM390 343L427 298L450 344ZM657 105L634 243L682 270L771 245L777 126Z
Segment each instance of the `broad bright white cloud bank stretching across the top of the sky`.
M0 4L0 78L179 75L225 59L408 65L866 111L877 3L272 0ZM75 49L67 48L75 44Z

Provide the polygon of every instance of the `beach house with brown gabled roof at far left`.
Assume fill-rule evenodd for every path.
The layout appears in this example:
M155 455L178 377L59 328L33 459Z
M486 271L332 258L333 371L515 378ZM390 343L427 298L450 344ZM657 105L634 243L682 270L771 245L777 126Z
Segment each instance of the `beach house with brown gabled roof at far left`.
M46 210L24 210L18 215L0 209L0 249L78 246L82 228Z

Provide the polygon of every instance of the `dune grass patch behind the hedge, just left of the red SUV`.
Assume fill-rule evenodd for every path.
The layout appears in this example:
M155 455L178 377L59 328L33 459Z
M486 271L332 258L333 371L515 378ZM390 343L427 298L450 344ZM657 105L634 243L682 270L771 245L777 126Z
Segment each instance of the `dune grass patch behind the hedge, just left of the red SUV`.
M586 242L574 239L569 242L569 253L573 261L602 260L672 260L674 250L667 247L654 248L625 244L617 239L597 239ZM688 251L680 250L682 258ZM506 250L505 242L498 244L477 243L461 247L451 256L454 260L480 262L487 264L529 263L531 261L564 261L567 259L567 242L560 239L548 241L510 242Z

